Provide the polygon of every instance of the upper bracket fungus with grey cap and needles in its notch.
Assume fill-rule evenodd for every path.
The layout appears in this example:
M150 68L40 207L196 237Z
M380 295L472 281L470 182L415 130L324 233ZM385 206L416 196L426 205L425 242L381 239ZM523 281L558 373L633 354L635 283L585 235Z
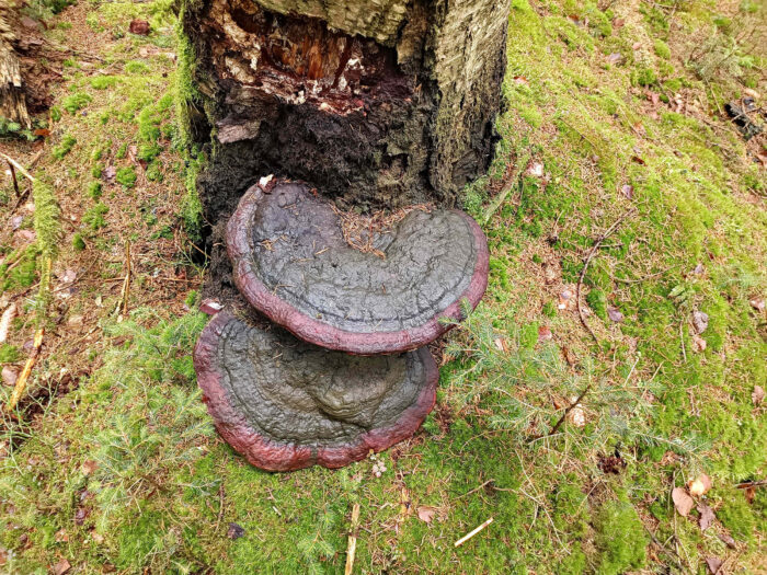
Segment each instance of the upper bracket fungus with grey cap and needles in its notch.
M374 253L352 248L340 216L302 183L251 187L227 227L244 298L298 337L353 354L422 347L474 308L488 286L488 243L458 210L413 210Z

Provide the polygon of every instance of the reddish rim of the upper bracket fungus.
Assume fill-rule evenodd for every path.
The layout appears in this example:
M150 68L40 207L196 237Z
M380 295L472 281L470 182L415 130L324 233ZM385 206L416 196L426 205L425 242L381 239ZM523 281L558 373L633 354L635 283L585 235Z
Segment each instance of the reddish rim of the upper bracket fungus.
M270 193L274 188L272 183ZM450 210L459 215L470 229L470 237L474 242L476 262L468 287L449 306L434 313L421 325L400 331L351 332L318 321L275 295L275 290L270 289L253 272L251 225L264 195L264 191L259 185L251 187L241 198L227 225L227 251L233 267L234 284L248 302L273 322L306 342L357 355L392 354L417 349L455 326L455 323L442 322L440 319L463 320L461 302L468 300L473 309L485 292L490 261L486 238L469 215L460 210Z

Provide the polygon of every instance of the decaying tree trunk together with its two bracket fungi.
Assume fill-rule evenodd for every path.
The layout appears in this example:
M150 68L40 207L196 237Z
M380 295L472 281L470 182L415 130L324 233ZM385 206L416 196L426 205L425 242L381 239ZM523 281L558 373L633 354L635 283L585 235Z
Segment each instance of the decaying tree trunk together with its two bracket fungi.
M224 307L195 370L252 464L346 465L433 409L424 346L486 288L486 239L454 208L491 160L510 1L183 3L204 296ZM352 233L357 216L388 223Z

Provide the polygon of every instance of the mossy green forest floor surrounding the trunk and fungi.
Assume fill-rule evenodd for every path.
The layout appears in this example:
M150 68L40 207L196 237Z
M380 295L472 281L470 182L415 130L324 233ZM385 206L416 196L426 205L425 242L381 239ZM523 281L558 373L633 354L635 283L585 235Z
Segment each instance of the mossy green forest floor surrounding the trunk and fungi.
M767 572L767 138L725 108L764 125L764 5L513 0L466 195L490 287L437 406L288 474L219 439L195 384L171 2L25 13L60 81L37 133L1 126L36 179L0 185L2 405L45 332L2 412L0 571L342 573L359 504L355 573Z

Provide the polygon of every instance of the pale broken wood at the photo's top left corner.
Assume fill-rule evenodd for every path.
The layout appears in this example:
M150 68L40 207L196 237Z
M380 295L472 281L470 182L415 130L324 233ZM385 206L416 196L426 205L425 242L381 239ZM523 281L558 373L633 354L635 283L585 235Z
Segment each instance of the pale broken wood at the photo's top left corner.
M10 0L0 0L0 116L28 129L32 120L26 111L19 57L13 49L16 38L11 10Z

